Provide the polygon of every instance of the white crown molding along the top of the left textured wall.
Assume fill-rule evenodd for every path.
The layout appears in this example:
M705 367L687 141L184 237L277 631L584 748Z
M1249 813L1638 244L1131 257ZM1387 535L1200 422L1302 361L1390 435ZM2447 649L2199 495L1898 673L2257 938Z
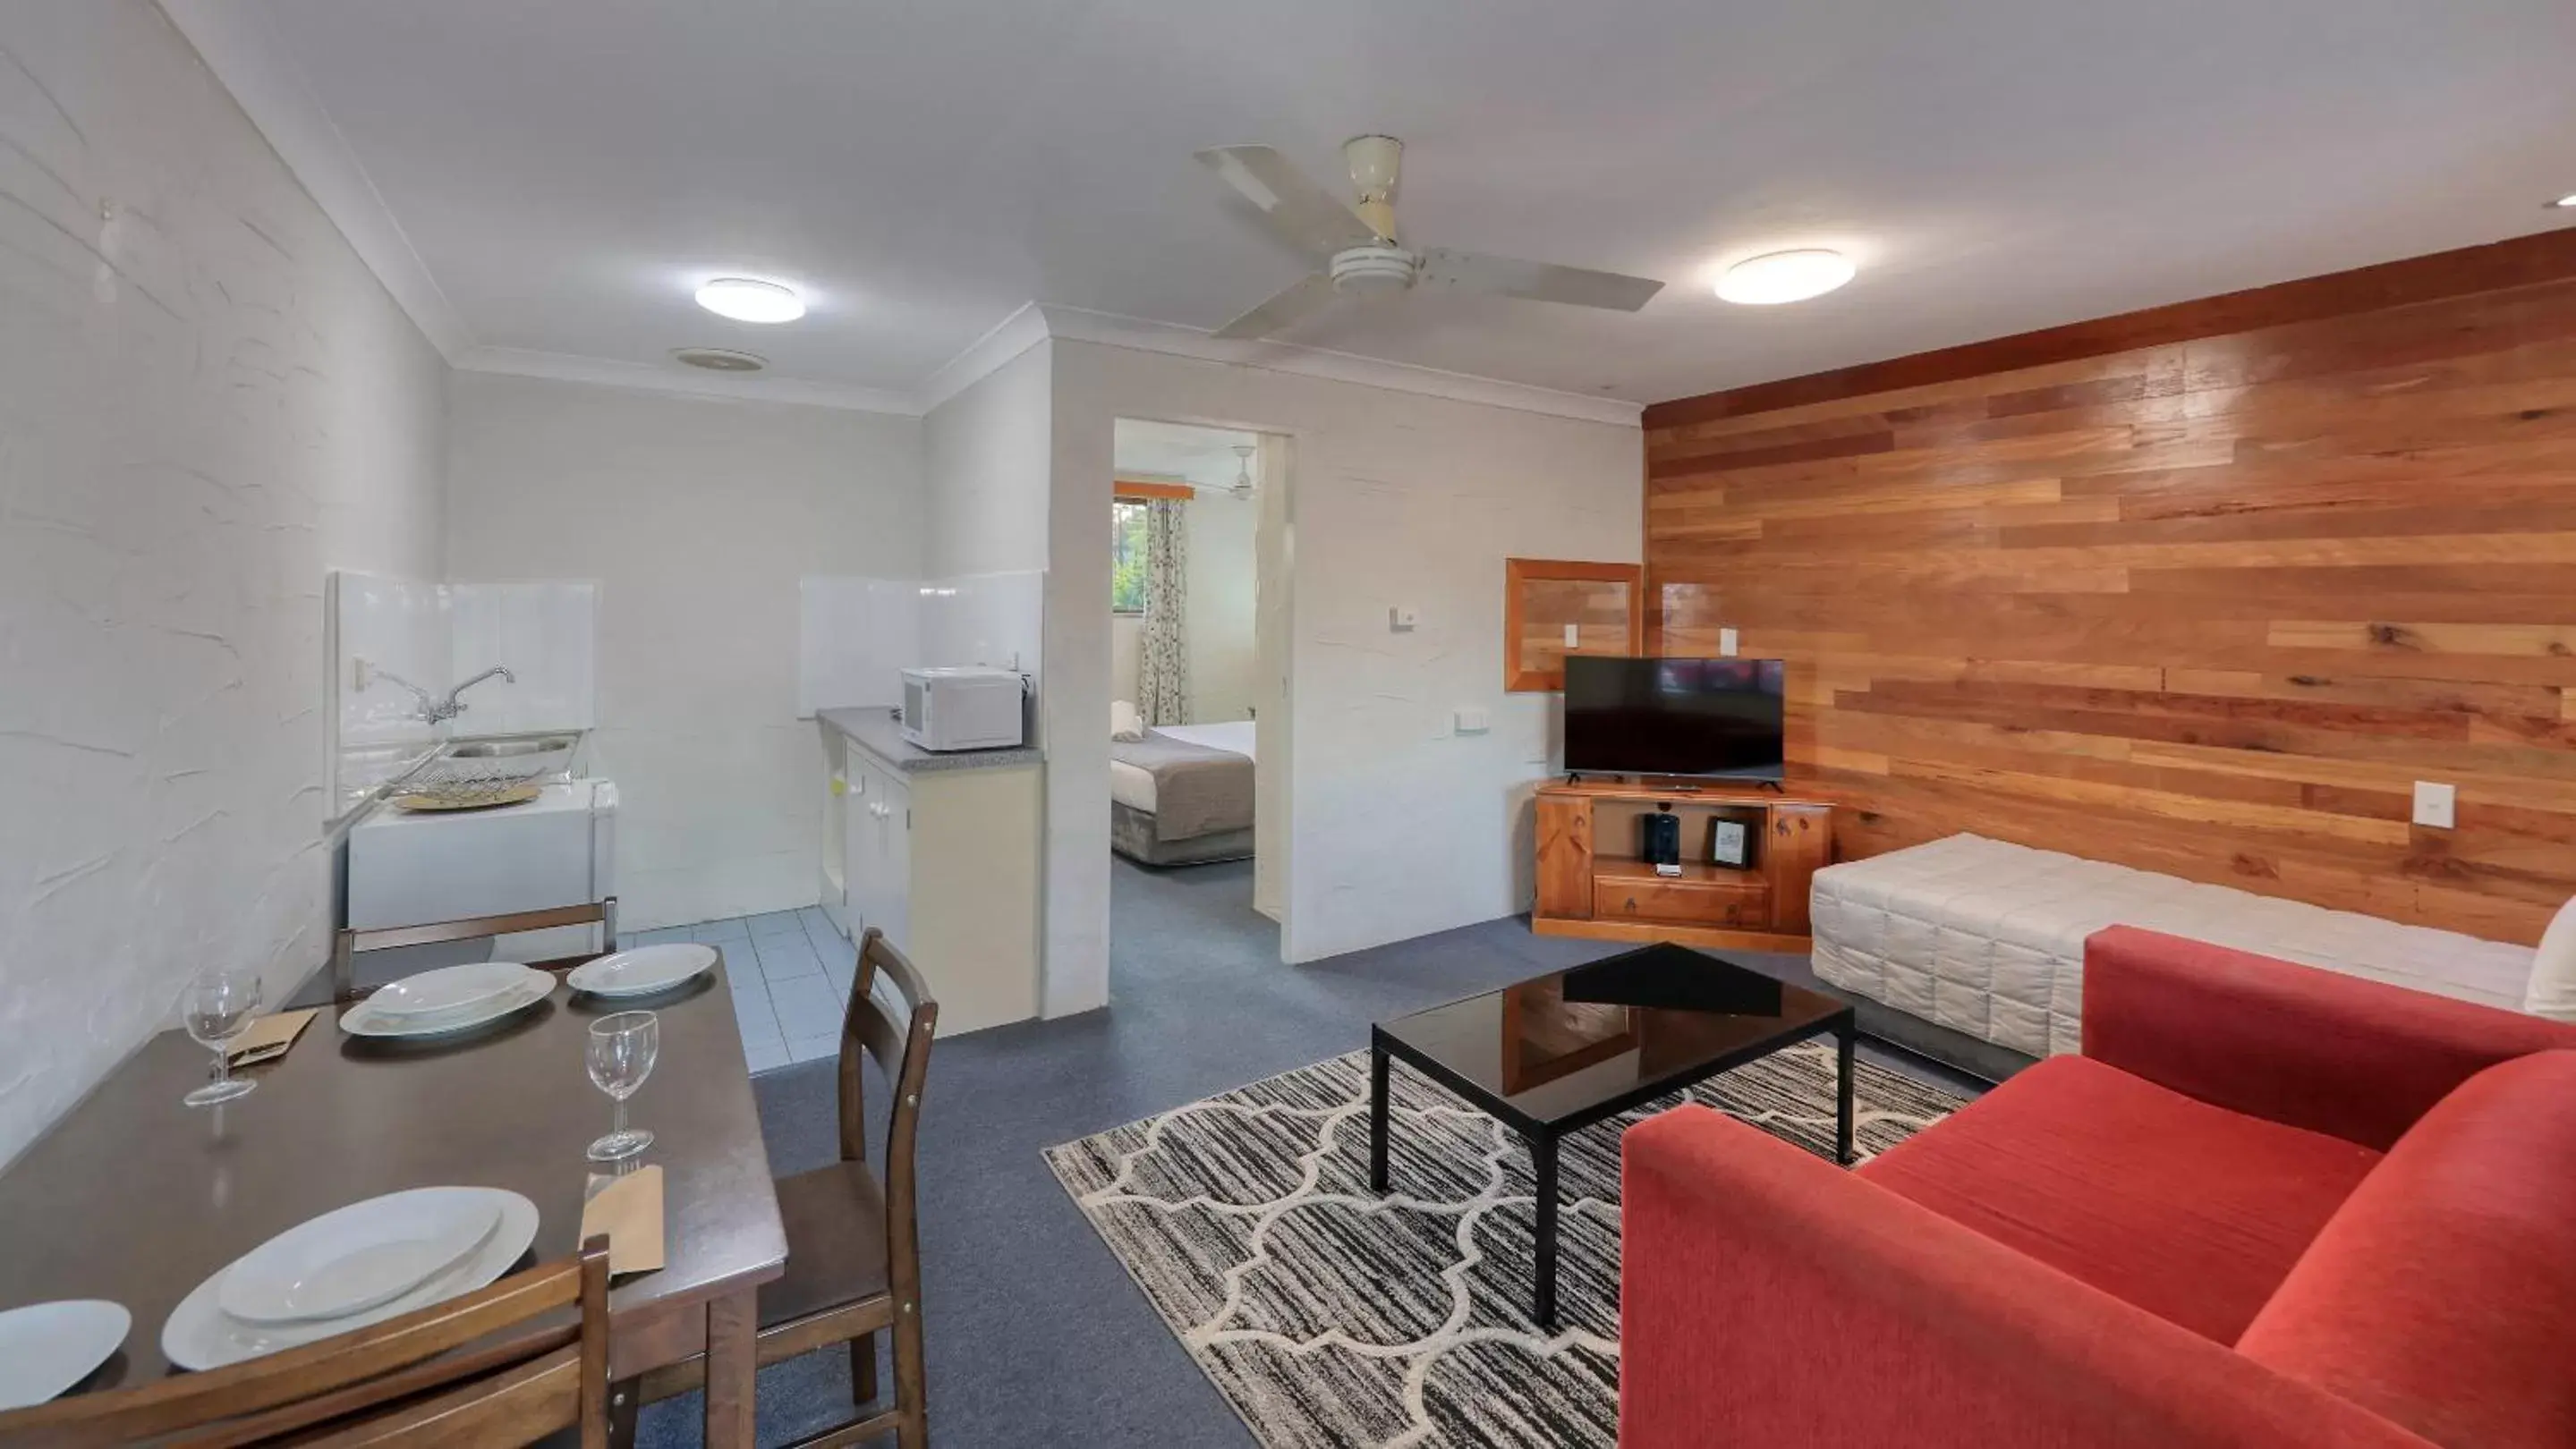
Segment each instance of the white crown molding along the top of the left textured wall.
M160 8L430 347L438 347L451 365L474 350L474 335L456 304L438 288L410 234L394 221L348 136L322 111L322 100L268 26L268 13L240 0L160 0Z

